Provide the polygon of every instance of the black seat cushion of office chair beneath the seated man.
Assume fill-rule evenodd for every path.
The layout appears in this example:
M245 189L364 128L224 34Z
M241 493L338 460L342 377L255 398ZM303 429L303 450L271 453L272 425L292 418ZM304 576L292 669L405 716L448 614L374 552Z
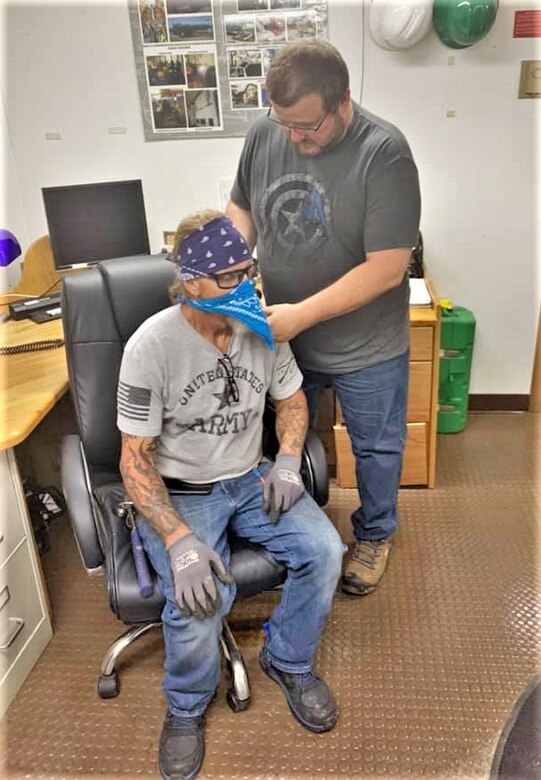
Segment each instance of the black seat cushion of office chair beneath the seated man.
M102 484L94 488L98 536L105 551L105 567L109 603L115 615L127 624L160 620L163 596L154 579L154 593L149 598L139 596L137 574L131 552L130 531L124 519L116 516L116 509L125 494L121 482ZM231 540L231 573L239 595L255 596L263 590L281 585L286 568L257 544L237 537Z

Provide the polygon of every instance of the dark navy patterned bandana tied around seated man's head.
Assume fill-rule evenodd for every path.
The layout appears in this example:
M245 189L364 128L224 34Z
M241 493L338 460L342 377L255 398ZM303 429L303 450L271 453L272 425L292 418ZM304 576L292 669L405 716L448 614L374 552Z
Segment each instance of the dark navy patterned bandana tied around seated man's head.
M175 258L179 279L213 276L251 257L246 239L227 217L216 217L180 242Z

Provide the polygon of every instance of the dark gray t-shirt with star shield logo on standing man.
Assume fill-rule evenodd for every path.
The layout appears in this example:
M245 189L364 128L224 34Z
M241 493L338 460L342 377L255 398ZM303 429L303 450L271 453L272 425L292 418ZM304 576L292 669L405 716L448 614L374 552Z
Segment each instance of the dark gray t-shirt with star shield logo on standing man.
M366 252L413 247L420 193L402 133L353 104L344 139L303 157L266 118L250 129L231 199L252 212L268 303L295 303L363 263ZM406 351L409 285L319 323L292 342L303 370L347 373Z

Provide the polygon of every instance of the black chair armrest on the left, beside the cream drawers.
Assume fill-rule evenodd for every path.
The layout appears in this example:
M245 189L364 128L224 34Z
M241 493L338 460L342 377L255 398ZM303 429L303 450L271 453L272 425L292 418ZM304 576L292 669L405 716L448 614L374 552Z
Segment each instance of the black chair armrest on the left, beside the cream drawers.
M90 572L103 566L104 557L96 530L88 468L77 434L70 433L62 439L60 470L75 541L83 564Z

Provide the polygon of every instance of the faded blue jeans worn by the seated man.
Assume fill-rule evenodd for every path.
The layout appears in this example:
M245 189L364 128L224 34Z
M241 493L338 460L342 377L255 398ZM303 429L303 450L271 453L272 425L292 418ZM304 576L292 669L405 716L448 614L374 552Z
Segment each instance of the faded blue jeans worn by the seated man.
M272 464L264 460L260 471ZM229 566L227 530L266 547L287 569L279 605L272 613L266 649L279 669L307 672L340 576L345 547L324 512L308 493L276 525L263 512L262 485L252 472L216 482L206 496L172 495L171 501L202 542ZM220 677L219 637L222 620L235 598L235 586L215 577L222 606L205 620L183 617L173 590L169 555L149 523L138 518L143 546L159 577L165 596L162 611L165 640L163 690L169 711L193 717L202 714Z

